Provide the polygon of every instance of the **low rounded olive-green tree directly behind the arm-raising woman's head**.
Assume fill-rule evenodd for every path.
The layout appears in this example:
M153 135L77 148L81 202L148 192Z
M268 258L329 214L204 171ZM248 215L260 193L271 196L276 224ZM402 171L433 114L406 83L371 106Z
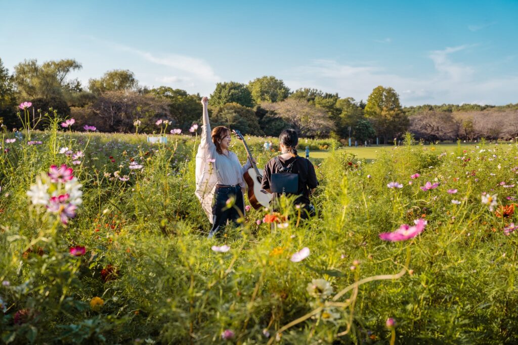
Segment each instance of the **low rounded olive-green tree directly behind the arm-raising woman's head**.
M215 126L225 126L238 129L243 134L264 136L255 112L237 103L227 103L214 108L210 123L212 128Z

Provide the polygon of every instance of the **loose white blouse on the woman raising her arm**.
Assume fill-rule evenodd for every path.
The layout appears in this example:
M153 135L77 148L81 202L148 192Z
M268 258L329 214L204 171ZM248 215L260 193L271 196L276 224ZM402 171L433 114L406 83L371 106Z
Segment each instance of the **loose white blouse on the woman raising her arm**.
M245 188L243 174L252 167L252 164L247 161L242 167L234 152L229 151L228 156L220 155L216 151L216 145L209 137L210 132L209 119L204 113L202 140L196 154L196 191L194 193L212 223L212 200L216 185L240 185L241 188ZM212 159L215 161L209 161Z

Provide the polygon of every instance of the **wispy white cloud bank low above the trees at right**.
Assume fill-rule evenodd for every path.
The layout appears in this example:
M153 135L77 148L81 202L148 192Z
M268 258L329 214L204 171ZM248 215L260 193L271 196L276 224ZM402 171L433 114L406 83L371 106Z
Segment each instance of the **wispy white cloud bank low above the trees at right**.
M472 47L464 45L431 51L428 57L434 64L434 71L412 77L391 73L374 64L354 66L320 59L293 69L285 81L292 89L314 87L356 100L366 100L378 85L390 86L399 93L402 104L406 106L518 101L514 93L518 88L518 76L487 78L476 68L455 62L455 53Z

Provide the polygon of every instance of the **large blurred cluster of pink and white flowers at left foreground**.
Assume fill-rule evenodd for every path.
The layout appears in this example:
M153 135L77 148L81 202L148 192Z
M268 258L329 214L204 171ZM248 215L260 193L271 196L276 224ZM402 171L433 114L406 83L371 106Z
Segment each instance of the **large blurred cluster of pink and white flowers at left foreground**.
M48 173L36 176L36 184L27 191L33 205L45 206L47 212L59 216L66 224L76 216L77 206L82 203L82 185L74 177L72 168L63 164L51 166Z

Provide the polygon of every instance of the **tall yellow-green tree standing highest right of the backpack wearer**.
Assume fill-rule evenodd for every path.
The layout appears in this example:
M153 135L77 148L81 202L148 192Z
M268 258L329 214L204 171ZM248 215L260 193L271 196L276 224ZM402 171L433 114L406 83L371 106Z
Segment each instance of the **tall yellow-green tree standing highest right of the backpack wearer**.
M365 117L368 118L376 134L387 143L404 132L408 125L408 117L399 103L399 96L392 87L378 86L372 90L365 106Z

